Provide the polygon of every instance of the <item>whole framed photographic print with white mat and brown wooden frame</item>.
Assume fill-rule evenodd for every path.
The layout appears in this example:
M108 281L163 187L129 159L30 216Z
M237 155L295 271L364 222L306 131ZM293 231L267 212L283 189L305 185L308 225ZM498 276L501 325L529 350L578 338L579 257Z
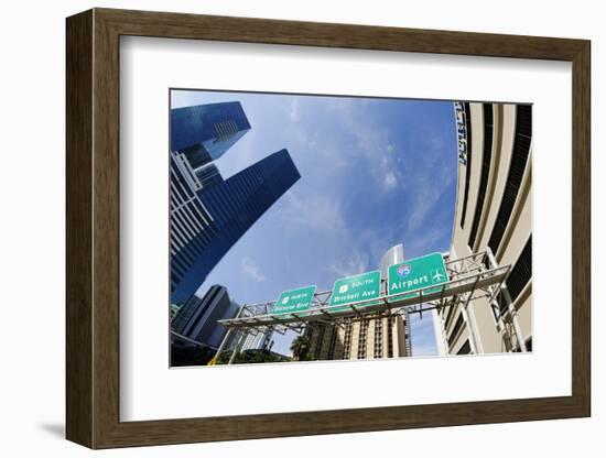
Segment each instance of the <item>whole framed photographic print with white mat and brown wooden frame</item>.
M67 19L67 438L588 416L589 43Z

